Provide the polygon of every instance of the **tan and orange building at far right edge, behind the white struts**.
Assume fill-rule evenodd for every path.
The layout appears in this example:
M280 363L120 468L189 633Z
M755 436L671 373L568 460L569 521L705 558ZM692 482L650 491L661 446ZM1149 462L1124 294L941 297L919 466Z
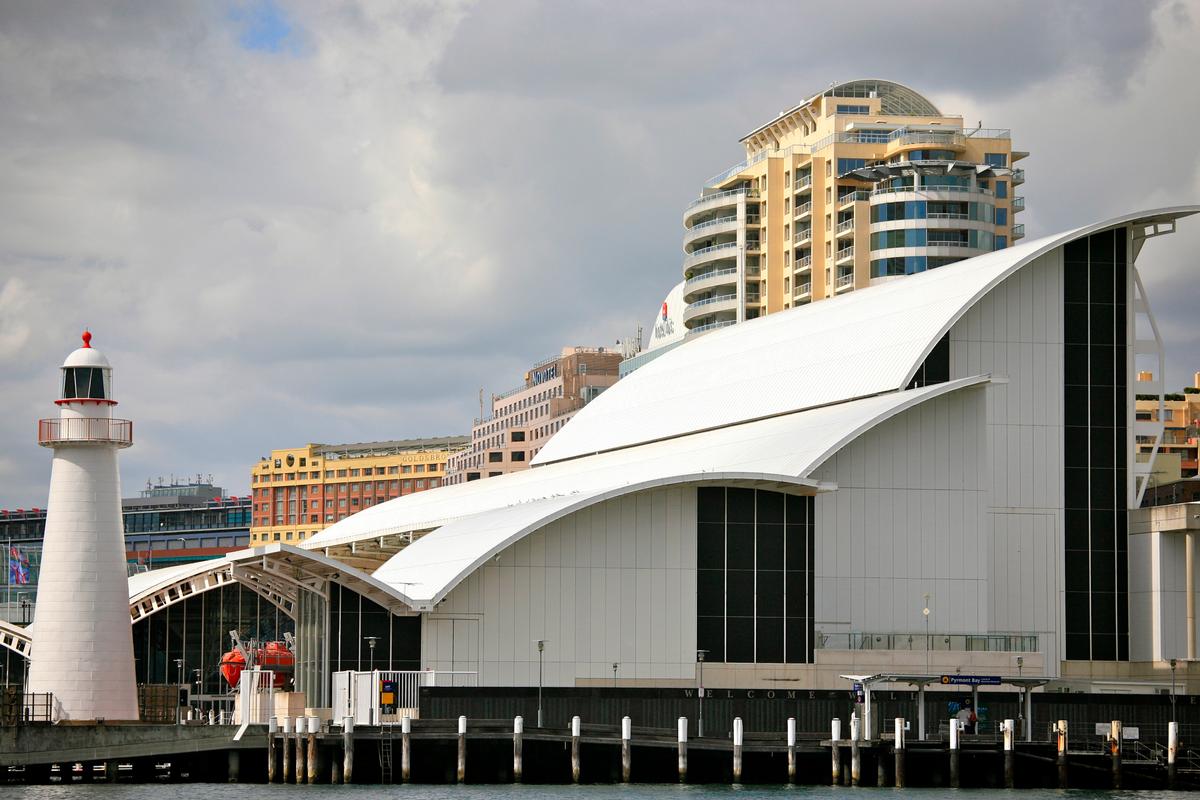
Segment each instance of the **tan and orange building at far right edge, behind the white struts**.
M1138 383L1154 384L1154 375L1139 372ZM1138 461L1153 456L1151 485L1160 486L1182 477L1196 476L1196 456L1200 450L1200 372L1195 373L1192 386L1182 392L1163 396L1162 414L1159 414L1158 395L1154 391L1139 391L1136 395L1136 420L1141 422L1162 422L1163 440L1158 452L1153 452L1153 437L1138 437Z

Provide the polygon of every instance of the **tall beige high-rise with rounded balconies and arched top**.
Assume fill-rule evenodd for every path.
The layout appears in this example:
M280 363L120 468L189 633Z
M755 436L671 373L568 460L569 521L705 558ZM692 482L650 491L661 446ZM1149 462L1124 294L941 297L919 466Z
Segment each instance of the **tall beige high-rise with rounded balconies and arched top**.
M1009 131L856 80L744 139L683 216L689 335L920 272L1025 235Z

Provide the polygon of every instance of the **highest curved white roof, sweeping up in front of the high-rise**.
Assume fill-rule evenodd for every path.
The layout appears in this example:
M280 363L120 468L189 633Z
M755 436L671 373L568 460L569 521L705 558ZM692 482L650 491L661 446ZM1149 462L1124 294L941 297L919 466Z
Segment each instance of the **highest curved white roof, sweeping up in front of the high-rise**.
M1198 211L1123 215L707 333L588 403L532 463L896 391L967 308L1042 253L1105 228Z

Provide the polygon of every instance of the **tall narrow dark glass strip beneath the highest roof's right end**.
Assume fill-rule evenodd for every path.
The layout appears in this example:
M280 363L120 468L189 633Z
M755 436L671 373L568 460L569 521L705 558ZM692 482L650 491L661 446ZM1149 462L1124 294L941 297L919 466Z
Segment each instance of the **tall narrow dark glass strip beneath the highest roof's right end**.
M1066 657L1127 661L1126 229L1063 248Z

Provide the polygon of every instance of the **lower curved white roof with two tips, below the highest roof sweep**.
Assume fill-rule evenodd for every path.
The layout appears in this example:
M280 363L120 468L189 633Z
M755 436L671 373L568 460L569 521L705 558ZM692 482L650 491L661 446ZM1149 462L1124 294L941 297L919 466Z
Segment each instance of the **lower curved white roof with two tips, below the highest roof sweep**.
M437 528L394 555L373 575L383 583L403 587L416 607L431 608L496 553L594 503L676 483L772 483L791 486L804 494L835 488L809 476L863 431L929 398L985 381L986 378L972 378L892 392L602 453L580 462L473 481L445 491L425 492L427 501L420 507L406 503L420 494L407 495L378 506L382 511L374 515L373 524L364 521L366 524L358 531L348 530L348 523L366 512L358 513L318 534L308 547L344 543L364 537L366 531L378 536ZM524 479L521 485L514 480L517 477ZM539 479L545 487L540 494L529 491L539 486L530 483L530 477ZM478 497L470 498L470 494ZM384 519L389 524L380 528ZM402 527L395 528L397 524ZM325 533L331 535L326 537Z

